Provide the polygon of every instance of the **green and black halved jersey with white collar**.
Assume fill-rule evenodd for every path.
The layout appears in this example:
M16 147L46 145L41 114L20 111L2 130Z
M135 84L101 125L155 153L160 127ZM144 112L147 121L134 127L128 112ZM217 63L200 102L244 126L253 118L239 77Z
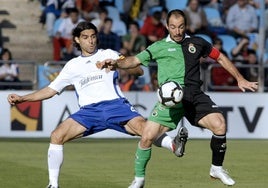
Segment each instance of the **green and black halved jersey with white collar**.
M181 43L176 43L168 36L148 46L137 57L144 66L151 61L157 63L159 84L173 80L183 87L200 88L199 59L208 56L211 50L212 45L200 37L186 35Z

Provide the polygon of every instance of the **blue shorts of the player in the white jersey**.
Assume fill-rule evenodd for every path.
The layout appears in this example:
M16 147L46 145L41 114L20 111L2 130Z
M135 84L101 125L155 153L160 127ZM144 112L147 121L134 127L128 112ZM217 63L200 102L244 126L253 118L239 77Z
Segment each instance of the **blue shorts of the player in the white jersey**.
M70 115L87 130L83 136L91 135L106 129L113 129L130 134L124 125L134 117L141 116L125 98L103 101L83 106Z

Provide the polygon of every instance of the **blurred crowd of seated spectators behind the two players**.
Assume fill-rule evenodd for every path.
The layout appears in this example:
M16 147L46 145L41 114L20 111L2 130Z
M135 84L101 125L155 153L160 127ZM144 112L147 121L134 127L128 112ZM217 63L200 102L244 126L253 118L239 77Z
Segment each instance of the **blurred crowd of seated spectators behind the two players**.
M246 65L240 68L245 78L250 81L258 80L258 68L247 65L259 63L261 0L173 1L185 4L181 9L187 18L187 34L209 40L233 63ZM48 41L53 45L54 61L68 61L79 55L72 45L72 29L83 20L94 23L98 28L99 48L110 48L126 56L135 55L166 36L166 15L173 8L168 6L166 0L39 0L39 2L42 12L39 21L47 31ZM265 6L268 17L268 0L265 0ZM267 21L265 24L267 38ZM234 46L229 45L228 41L221 37L223 35L231 37L235 41ZM268 54L267 39L265 49ZM209 58L201 61L204 62L202 66L204 69L216 64ZM267 70L268 68L265 70L265 75L268 75ZM151 62L151 66L144 68L144 72L144 76L136 78L120 70L119 81L122 90L155 91L156 63ZM231 75L217 66L211 68L210 79L213 86L236 85ZM268 78L266 85L268 87ZM210 90L230 91L230 88L210 87Z

